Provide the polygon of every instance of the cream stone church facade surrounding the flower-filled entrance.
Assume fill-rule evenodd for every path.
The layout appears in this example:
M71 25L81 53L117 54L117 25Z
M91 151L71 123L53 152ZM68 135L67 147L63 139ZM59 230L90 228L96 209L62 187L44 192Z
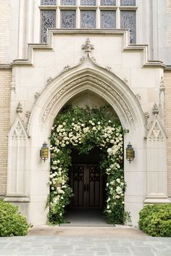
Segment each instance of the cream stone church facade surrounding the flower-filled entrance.
M0 37L0 196L25 202L29 222L45 224L49 160L42 162L39 152L43 141L49 143L54 118L67 104L109 104L129 131L124 151L129 141L135 150L131 164L124 160L125 209L133 225L144 203L170 202L166 16L143 12L153 7L168 15L168 1L2 0L1 6L7 34Z

